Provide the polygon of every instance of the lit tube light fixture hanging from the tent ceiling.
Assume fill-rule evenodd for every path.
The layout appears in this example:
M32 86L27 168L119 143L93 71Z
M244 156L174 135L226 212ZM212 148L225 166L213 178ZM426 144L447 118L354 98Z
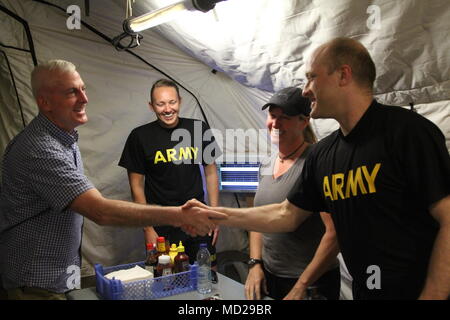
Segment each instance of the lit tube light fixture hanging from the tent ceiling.
M113 39L113 45L117 50L135 48L140 45L142 40L139 32L176 19L185 12L208 12L214 9L216 3L221 1L226 0L182 0L139 17L128 18L123 22L124 33ZM124 46L120 42L127 37L131 37L131 41L127 46Z

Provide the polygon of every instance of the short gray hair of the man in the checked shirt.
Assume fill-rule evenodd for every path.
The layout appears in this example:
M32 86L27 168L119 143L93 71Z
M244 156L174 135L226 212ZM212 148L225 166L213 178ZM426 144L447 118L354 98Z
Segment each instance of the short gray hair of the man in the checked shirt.
M48 73L73 73L76 71L75 65L72 62L65 60L56 59L41 63L34 68L33 72L31 72L31 90L33 91L33 96L37 98L40 89L49 86L51 79L48 77Z

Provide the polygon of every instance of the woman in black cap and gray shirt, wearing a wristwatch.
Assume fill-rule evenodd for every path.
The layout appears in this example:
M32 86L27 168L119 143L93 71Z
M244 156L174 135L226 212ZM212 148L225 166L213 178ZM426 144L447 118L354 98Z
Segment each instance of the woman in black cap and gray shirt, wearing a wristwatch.
M309 125L310 102L300 89L278 91L263 110L267 107L266 126L279 152L261 165L255 206L286 199L302 172L310 145L316 142ZM247 299L260 299L263 294L274 299L302 299L313 285L325 298L339 299L339 248L327 213L311 215L289 233L250 232L249 240Z

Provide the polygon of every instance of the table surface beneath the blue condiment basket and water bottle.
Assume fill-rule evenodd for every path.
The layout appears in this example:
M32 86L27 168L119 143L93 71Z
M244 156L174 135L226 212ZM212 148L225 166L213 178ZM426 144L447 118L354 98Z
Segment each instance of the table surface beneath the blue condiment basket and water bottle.
M197 291L189 291L169 297L164 297L158 300L203 300L214 295L219 295L220 299L223 300L246 300L244 294L244 286L234 281L233 279L224 276L223 274L217 273L218 283L213 284L213 290L207 294L202 295ZM101 297L97 294L95 287L74 290L67 294L67 299L69 300L100 300ZM271 300L271 298L266 297L265 300Z

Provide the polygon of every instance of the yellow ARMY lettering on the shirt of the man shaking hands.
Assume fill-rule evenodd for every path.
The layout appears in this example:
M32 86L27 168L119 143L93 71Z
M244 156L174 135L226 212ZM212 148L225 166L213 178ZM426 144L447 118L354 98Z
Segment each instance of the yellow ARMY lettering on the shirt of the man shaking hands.
M375 179L380 170L381 163L377 163L372 172L369 173L366 166L358 167L355 172L350 170L347 175L345 173L335 173L331 176L331 186L328 176L323 178L323 194L329 197L331 201L338 199L347 199L356 197L358 193L367 194L375 193ZM364 181L367 183L364 184Z

